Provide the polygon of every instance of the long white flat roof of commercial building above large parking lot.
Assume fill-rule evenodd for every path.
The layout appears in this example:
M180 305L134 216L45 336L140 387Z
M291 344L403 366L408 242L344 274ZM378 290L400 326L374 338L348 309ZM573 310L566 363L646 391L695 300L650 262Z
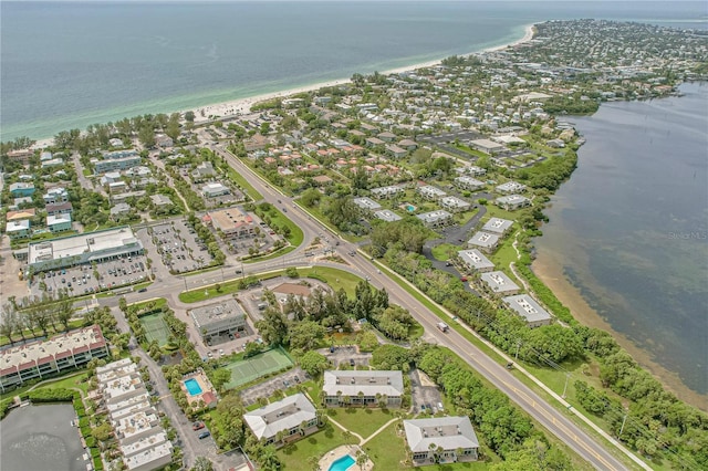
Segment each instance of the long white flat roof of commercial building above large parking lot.
M143 247L127 226L30 243L29 263L81 257L85 252L103 252L124 245Z

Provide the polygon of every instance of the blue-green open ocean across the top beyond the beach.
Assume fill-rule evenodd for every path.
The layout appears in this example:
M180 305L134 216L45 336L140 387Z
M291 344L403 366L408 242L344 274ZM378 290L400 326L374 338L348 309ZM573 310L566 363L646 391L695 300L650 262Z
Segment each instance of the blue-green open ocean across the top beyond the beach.
M0 140L506 44L546 19L706 28L704 2L0 2Z

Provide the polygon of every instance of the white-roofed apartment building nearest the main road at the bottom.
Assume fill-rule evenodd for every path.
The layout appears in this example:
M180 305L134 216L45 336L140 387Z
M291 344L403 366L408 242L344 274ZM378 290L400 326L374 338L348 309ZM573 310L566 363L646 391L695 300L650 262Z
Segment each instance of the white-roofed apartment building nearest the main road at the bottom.
M404 420L403 428L414 467L477 460L479 440L467 416Z

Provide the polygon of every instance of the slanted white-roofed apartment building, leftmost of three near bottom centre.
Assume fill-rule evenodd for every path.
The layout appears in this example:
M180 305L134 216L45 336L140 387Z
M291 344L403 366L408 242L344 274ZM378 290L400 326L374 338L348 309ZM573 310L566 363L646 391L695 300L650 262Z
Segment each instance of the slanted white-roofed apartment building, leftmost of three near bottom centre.
M303 394L247 412L243 421L260 442L277 447L317 430L316 410Z

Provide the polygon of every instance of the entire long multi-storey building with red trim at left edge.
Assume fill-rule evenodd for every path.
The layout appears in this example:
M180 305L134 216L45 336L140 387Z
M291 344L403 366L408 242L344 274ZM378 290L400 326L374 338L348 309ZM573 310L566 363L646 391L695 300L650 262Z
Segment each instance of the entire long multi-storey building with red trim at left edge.
M0 390L6 393L30 379L46 378L108 355L108 345L97 325L6 348L0 352Z

